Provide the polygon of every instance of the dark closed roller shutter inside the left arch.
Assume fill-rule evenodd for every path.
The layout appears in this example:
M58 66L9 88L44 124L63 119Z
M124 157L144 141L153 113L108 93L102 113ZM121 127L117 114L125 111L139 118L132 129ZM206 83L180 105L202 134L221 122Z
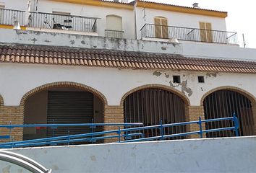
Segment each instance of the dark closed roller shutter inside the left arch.
M47 123L92 123L93 94L90 92L48 92ZM48 128L47 137L90 133L89 127Z

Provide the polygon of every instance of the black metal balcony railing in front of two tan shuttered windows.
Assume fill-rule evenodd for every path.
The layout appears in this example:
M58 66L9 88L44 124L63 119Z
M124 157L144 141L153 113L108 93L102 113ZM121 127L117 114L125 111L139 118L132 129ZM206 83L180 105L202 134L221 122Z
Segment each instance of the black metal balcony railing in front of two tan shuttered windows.
M195 42L238 44L236 32L221 30L201 30L189 27L145 24L140 32L142 37L150 38L176 38L178 40Z

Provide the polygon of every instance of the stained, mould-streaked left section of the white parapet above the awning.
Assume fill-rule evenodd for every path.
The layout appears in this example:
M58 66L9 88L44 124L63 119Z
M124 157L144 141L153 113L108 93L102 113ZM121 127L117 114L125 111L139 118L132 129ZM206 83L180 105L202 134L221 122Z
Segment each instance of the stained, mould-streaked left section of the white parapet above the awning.
M179 44L72 35L56 32L23 31L0 29L0 43L19 43L32 45L57 45L76 48L111 49L126 51L143 51L155 53L182 53ZM165 47L165 49L163 49Z

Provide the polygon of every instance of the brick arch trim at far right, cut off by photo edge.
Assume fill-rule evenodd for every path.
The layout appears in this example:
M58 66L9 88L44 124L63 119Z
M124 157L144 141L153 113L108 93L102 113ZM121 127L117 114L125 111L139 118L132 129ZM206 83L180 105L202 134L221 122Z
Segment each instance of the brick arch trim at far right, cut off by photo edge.
M235 86L221 86L221 87L211 89L210 91L206 92L200 100L200 105L203 106L203 101L205 100L206 97L208 97L208 95L212 94L213 92L217 92L217 91L220 91L220 90L223 90L223 89L226 89L226 90L229 90L229 91L232 91L232 92L238 92L239 94L242 94L245 97L247 97L252 103L256 102L255 96L250 94L249 92L245 91L244 89L240 89L240 88L235 87Z

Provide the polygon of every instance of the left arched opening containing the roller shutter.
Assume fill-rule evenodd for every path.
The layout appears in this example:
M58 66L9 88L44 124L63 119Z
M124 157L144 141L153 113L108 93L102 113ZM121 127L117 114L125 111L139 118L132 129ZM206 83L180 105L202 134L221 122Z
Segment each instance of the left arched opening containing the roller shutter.
M103 123L105 100L80 84L38 87L24 100L24 124ZM24 128L23 140L102 131L103 127ZM101 141L99 141L101 142Z

